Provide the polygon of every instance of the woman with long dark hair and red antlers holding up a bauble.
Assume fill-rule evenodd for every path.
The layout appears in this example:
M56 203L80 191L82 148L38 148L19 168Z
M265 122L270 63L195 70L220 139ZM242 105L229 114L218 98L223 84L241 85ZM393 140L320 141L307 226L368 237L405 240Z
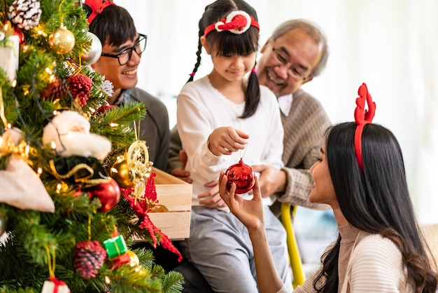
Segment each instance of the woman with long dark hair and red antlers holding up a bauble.
M416 222L402 150L390 130L371 123L375 104L365 84L359 94L355 122L327 130L311 167L309 200L332 207L339 236L295 292L437 292L436 265ZM258 183L253 200L235 196L234 186L228 193L226 184L222 174L220 196L248 228L260 292L290 292L276 276L265 243Z

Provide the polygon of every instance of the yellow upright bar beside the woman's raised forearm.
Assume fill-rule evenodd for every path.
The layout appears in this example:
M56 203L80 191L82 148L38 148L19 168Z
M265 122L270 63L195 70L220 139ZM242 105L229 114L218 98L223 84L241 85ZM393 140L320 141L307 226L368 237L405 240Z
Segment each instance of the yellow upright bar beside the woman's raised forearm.
M299 255L297 238L295 238L295 232L292 226L292 217L290 216L290 214L293 214L295 217L296 213L296 206L288 203L281 203L281 222L283 223L288 236L288 251L293 276L292 286L294 289L297 286L302 285L304 280L306 280L306 275L304 275L303 270L303 263L301 256Z

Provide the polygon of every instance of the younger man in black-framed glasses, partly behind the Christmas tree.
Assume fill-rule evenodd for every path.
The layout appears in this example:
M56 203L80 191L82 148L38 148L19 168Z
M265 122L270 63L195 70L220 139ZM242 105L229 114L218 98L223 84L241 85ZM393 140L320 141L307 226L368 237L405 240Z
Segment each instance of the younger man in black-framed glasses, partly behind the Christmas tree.
M142 102L146 116L137 123L141 140L146 141L150 161L166 170L169 156L169 114L163 102L136 88L137 68L146 49L147 36L136 31L134 20L125 8L108 0L86 0L90 32L102 43L101 57L92 68L113 83L110 104Z

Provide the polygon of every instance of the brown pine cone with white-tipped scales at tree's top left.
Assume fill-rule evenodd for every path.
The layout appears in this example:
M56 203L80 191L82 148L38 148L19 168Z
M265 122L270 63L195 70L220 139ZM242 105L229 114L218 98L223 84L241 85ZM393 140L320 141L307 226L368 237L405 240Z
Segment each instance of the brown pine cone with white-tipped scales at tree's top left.
M38 0L15 0L9 7L8 18L20 29L29 30L40 22L40 6Z

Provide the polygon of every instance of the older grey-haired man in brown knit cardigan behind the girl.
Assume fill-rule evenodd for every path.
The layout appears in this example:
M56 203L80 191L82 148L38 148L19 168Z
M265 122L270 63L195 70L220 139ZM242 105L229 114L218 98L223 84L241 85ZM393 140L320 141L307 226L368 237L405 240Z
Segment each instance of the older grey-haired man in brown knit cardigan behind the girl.
M331 125L322 105L301 86L323 71L328 57L327 40L316 25L307 20L288 20L279 25L261 49L257 62L258 79L277 97L284 128L283 163L276 170L268 165L253 165L260 172L262 196L276 194L271 206L279 214L280 203L327 209L328 205L309 203L313 179L309 169L318 159L324 134ZM172 175L191 182L190 172L184 170L185 153L176 127L171 130L169 171ZM199 195L199 203L211 207L224 205L219 196L218 182L206 182L211 190ZM187 261L174 268L185 276L183 292L211 292L199 271Z

